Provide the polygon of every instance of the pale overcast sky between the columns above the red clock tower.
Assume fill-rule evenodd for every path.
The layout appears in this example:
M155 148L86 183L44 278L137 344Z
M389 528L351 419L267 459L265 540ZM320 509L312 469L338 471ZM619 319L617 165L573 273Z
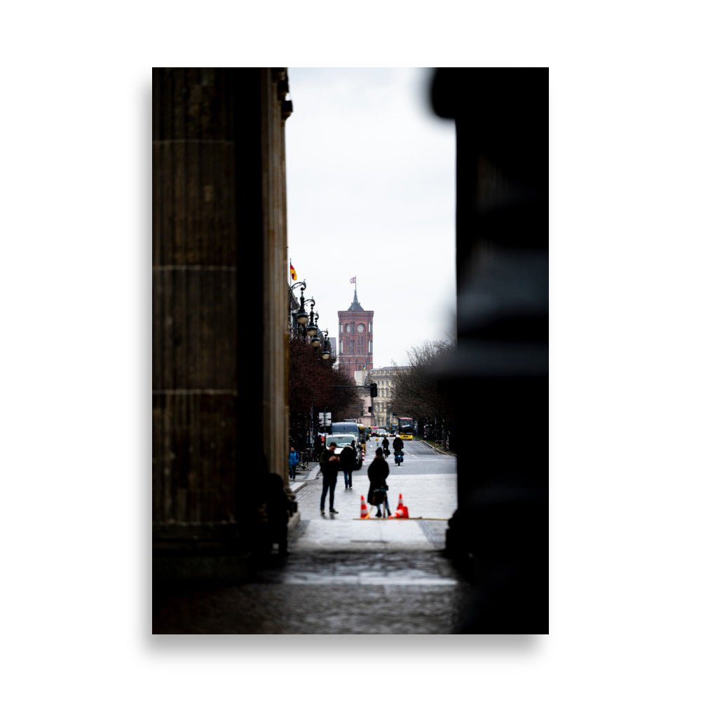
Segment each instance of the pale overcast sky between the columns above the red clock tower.
M454 336L455 128L430 69L292 68L285 123L288 259L319 326L374 311L374 367Z

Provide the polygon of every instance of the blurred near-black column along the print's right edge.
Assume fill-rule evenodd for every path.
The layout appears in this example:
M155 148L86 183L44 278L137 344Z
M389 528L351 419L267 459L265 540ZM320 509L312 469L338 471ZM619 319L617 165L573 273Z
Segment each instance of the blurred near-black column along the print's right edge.
M439 69L457 136L458 510L465 633L547 632L547 69Z

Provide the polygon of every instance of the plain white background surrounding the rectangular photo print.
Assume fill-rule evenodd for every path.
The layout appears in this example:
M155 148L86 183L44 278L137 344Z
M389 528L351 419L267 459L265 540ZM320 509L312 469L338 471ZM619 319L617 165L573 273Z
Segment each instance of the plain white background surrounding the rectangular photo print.
M5 10L4 696L697 698L693 6L255 7ZM550 67L548 636L151 637L154 64Z

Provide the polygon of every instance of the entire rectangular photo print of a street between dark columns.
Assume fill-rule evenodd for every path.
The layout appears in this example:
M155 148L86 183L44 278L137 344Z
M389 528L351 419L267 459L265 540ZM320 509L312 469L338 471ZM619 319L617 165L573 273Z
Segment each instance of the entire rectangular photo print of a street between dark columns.
M152 96L153 632L547 632L547 69Z

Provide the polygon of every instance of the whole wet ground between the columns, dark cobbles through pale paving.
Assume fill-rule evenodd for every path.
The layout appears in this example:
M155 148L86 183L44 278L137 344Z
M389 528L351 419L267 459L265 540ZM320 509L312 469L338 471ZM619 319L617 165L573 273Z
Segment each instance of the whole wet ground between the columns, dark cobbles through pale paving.
M353 489L344 489L340 475L337 515L329 515L328 500L327 515L320 515L317 469L299 475L290 485L299 505L290 554L273 554L245 584L156 597L154 633L457 632L472 590L443 554L447 519L456 508L455 472L404 474L390 465L390 508L401 493L411 518L361 520L367 464L354 473Z

